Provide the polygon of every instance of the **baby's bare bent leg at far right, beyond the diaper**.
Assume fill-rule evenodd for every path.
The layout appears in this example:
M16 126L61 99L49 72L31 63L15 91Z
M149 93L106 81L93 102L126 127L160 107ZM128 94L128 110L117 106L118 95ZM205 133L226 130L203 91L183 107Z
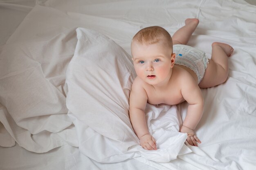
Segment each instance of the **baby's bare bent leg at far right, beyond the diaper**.
M200 88L213 87L227 80L229 73L228 57L234 49L229 44L213 42L211 60L205 71L202 81L198 84Z

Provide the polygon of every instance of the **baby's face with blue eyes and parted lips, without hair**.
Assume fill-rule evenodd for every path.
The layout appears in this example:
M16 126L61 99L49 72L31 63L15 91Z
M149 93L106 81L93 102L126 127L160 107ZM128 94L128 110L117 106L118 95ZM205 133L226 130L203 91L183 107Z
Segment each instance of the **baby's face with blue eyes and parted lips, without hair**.
M137 76L151 85L161 85L169 81L175 54L163 41L157 44L132 42L132 60ZM173 57L174 56L174 57Z

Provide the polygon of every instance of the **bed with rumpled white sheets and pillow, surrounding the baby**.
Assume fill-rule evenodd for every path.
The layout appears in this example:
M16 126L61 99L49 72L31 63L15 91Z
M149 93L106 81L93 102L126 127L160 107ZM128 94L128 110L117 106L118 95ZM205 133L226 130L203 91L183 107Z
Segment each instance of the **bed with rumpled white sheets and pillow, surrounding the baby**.
M0 1L1 170L256 169L256 3L252 0ZM198 18L190 46L234 48L224 84L202 89L202 141L185 145L186 102L146 106L158 150L128 117L133 35L171 35Z

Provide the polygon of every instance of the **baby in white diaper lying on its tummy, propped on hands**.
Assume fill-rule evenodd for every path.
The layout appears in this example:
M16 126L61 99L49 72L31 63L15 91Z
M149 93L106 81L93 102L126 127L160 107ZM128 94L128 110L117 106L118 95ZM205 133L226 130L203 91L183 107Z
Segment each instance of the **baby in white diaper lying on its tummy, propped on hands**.
M234 49L228 44L213 42L211 59L204 52L186 46L199 20L189 18L173 38L160 26L141 29L132 39L132 60L137 73L130 93L130 121L140 145L156 150L156 141L146 126L145 107L150 104L176 105L188 102L188 110L180 132L186 141L198 146L201 141L194 129L200 121L204 99L200 88L226 81L228 57Z

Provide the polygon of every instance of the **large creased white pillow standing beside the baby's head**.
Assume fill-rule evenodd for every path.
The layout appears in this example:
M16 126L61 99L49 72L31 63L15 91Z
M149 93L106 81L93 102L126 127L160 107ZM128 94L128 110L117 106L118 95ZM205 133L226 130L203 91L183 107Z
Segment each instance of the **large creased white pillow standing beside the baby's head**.
M129 55L105 35L83 28L76 32L78 42L66 73L67 108L109 139L120 144L136 140L128 116L136 76Z

